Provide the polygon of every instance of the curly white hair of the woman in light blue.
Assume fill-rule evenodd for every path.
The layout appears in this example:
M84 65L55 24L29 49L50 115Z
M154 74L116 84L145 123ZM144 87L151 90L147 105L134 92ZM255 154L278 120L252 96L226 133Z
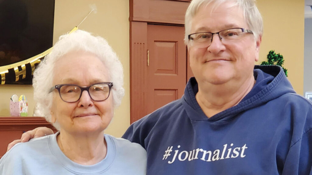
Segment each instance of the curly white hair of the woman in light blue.
M107 41L100 36L93 36L89 32L77 30L70 34L61 35L53 46L51 53L45 56L38 68L34 71L32 86L34 87L34 100L37 102L40 113L46 121L51 122L51 104L53 100L49 89L54 86L53 75L54 65L58 59L71 51L87 51L95 54L105 65L109 73L109 79L114 83L111 89L114 108L119 106L124 97L124 74L122 64L117 54L110 47ZM70 66L70 65L68 65ZM56 129L60 125L53 123Z

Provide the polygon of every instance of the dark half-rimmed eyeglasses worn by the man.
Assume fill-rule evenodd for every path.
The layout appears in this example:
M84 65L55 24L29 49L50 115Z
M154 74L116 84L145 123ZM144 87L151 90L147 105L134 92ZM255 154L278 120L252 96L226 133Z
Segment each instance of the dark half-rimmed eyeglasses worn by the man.
M245 34L253 34L251 30L244 28L231 28L219 31L217 33L212 32L198 32L188 35L188 40L191 41L193 46L197 47L209 47L212 42L212 36L218 34L222 43L227 44L228 42L234 42L235 40L240 39L240 37Z

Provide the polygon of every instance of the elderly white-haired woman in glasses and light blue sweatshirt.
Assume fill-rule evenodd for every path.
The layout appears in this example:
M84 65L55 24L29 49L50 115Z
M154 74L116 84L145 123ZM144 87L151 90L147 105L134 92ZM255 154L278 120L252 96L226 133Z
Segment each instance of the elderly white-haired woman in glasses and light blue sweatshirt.
M0 174L145 174L146 151L104 135L124 96L123 70L101 37L62 35L34 73L34 99L54 135L16 144Z

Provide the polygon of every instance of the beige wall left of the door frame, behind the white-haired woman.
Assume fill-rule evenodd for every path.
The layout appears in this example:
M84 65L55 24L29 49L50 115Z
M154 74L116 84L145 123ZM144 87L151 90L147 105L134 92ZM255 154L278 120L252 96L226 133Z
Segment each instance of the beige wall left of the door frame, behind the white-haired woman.
M125 96L122 105L115 110L115 116L105 131L121 137L130 123L130 77L129 77L129 1L128 0L56 0L54 16L53 44L58 37L67 33L90 12L89 4L95 4L97 13L90 16L79 29L104 37L118 54L124 67ZM34 108L33 89L31 85L0 86L0 116L10 116L9 100L12 94L25 94L28 100L29 114Z

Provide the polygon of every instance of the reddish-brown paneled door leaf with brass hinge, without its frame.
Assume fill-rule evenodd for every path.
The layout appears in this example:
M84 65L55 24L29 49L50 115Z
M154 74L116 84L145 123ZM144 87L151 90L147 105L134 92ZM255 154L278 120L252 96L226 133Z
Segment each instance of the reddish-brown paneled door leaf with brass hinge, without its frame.
M147 114L181 98L187 78L184 27L147 25Z

